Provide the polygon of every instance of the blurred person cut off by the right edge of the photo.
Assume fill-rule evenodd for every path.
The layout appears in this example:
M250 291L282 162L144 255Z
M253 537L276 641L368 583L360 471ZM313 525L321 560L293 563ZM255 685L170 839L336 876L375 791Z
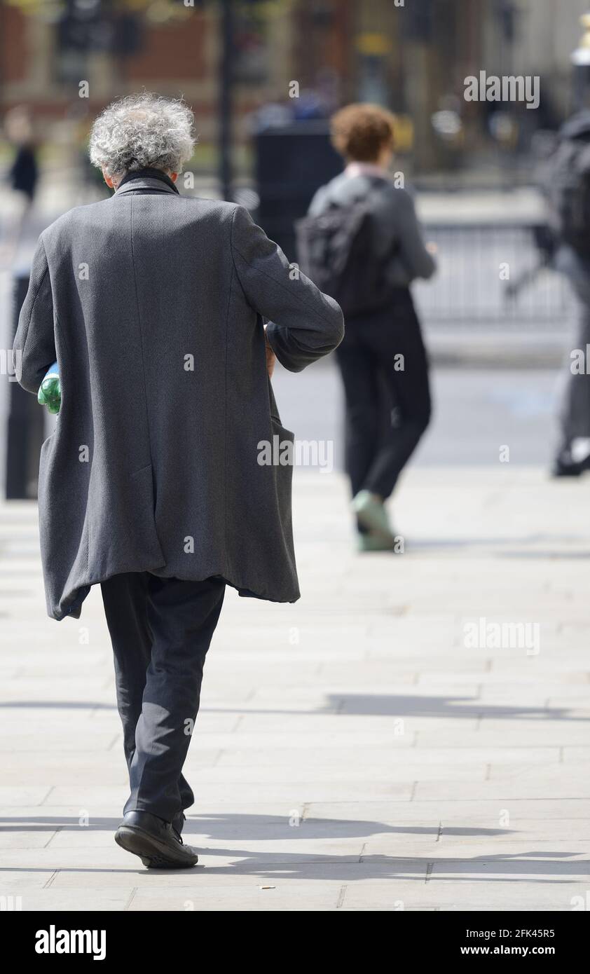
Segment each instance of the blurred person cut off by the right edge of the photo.
M565 123L542 171L556 239L553 265L572 284L578 304L575 348L585 356L590 348L590 111L577 112ZM579 476L590 469L590 365L586 362L583 370L573 366L568 354L554 476Z

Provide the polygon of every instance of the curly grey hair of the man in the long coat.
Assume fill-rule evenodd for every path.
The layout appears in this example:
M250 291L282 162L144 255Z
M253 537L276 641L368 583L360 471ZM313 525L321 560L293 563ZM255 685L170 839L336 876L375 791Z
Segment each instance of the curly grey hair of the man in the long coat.
M118 98L94 121L91 162L108 176L146 167L180 172L195 149L194 122L182 98L150 92Z

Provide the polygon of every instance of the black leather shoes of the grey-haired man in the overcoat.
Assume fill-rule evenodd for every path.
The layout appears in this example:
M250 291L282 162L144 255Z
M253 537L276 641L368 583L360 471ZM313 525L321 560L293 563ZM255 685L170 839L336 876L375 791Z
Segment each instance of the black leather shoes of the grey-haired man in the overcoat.
M115 842L151 869L189 869L199 862L197 850L185 845L169 822L149 811L128 811Z

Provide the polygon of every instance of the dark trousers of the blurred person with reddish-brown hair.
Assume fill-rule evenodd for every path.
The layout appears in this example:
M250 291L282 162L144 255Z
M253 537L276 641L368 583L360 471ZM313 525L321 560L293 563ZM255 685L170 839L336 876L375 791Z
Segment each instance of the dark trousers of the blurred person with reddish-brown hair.
M346 466L352 496L384 499L430 420L428 363L407 288L386 311L348 318L336 356L346 400Z

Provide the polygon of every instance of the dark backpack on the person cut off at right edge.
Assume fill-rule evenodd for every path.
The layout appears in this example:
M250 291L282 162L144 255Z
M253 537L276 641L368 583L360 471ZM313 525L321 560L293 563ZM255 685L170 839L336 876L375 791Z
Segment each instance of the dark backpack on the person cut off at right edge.
M565 139L549 168L547 186L555 230L582 257L590 257L590 141Z

